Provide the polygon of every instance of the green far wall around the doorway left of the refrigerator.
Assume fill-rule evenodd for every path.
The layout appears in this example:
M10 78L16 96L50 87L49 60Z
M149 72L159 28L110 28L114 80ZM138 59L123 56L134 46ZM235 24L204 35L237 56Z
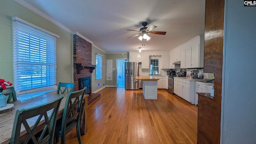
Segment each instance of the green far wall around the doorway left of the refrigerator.
M107 54L107 60L113 60L113 68L115 68L115 70L113 70L113 74L112 74L112 80L107 80L106 81L106 85L107 86L116 86L116 59L117 58L129 58L129 54L128 53L124 53L124 55L122 56L121 54Z

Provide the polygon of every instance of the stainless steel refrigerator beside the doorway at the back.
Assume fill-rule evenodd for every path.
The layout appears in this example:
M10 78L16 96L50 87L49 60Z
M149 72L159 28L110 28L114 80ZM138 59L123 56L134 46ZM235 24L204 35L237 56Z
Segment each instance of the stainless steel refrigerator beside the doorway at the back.
M125 86L126 90L138 90L140 83L136 80L139 76L139 63L138 62L125 62Z

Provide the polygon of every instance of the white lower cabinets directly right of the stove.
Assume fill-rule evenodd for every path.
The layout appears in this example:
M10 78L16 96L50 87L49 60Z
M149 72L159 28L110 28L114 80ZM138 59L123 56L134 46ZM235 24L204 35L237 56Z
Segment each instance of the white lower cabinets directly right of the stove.
M184 100L195 104L195 81L174 78L174 93Z

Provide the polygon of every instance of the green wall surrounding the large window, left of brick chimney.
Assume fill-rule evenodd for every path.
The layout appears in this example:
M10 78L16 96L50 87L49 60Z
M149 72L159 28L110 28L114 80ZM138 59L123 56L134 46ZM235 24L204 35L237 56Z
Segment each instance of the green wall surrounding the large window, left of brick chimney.
M57 38L57 82L73 82L73 37L14 0L0 0L0 78L14 82L12 17L17 16L60 36ZM15 85L15 84L14 84Z

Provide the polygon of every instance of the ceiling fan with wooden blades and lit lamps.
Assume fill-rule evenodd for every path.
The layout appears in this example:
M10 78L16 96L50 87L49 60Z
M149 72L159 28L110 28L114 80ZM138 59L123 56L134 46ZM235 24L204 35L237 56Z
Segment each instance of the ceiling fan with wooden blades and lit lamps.
M166 32L155 32L155 31L151 31L154 28L156 28L157 26L151 24L150 26L146 27L148 25L147 22L142 22L142 28L140 28L140 31L138 30L130 30L130 31L135 31L135 32L139 32L138 34L134 35L134 36L130 36L129 38L135 37L140 35L140 37L138 37L138 39L142 40L142 39L146 39L147 41L150 40L150 37L147 34L162 34L165 35Z

